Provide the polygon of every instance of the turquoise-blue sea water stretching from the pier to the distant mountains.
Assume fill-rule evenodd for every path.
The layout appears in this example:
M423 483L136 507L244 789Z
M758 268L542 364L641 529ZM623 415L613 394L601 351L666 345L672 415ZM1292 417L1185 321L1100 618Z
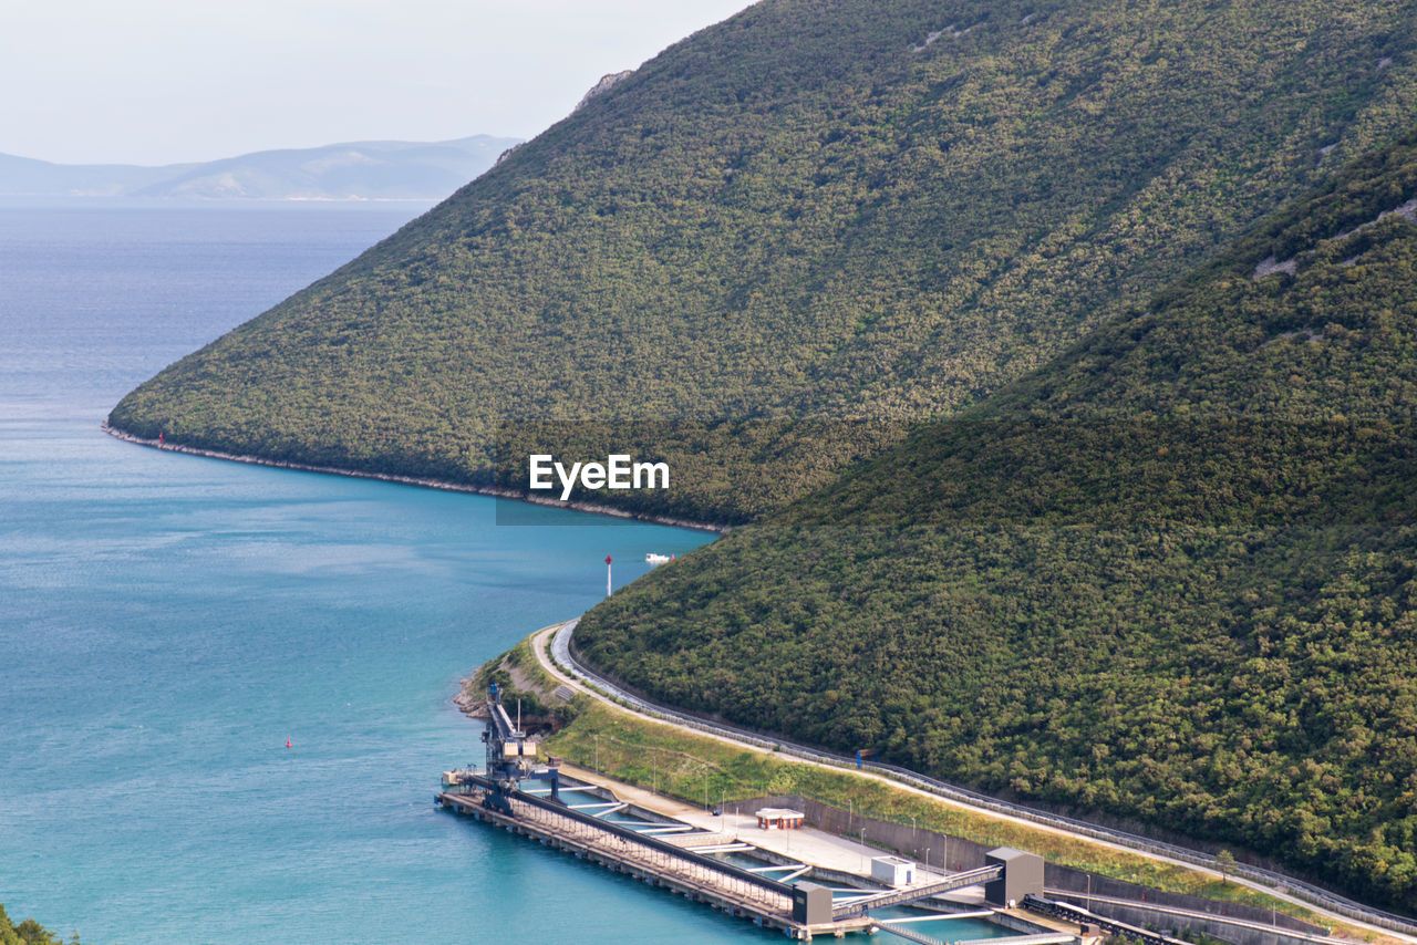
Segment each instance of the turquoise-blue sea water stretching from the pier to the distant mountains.
M0 902L126 945L775 939L432 805L458 679L704 533L98 429L414 213L0 205Z

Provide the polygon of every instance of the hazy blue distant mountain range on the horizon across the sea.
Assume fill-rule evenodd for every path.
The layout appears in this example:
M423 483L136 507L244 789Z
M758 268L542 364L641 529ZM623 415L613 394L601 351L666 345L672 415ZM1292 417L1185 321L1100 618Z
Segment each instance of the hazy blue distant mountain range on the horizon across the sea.
M0 154L0 196L190 200L441 200L519 143L349 142L196 164L54 164Z

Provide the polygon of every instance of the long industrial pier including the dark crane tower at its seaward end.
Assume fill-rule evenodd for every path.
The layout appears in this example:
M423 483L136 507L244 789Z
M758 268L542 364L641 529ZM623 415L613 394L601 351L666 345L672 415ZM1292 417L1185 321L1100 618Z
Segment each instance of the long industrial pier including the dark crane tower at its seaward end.
M755 822L760 830L781 834L785 851L772 850L775 844L745 843L728 826L730 820L741 820L738 815L730 817L714 810L706 823L687 809L674 815L646 798L636 802L636 793L643 795L636 788L619 785L622 796L604 785L567 779L567 768L574 768L561 758L543 759L540 745L521 730L520 710L513 720L503 706L497 683L487 686L482 741L483 771L444 772L442 791L435 796L441 808L782 931L788 938L809 942L818 935L842 938L850 932L887 931L927 941L910 921L883 919L871 912L965 887L983 887L983 898L995 907L989 912L999 924L1026 935L1050 935L1047 944L1024 945L1051 945L1057 938L1057 929L1012 914L1024 894L1043 891L1043 860L1032 853L999 847L985 857L983 867L962 873L931 873L927 864L917 881L918 864L870 856L867 867L873 851L860 846L843 857L839 839L813 836L815 832L806 832L792 850L792 834L801 830L803 815L772 808L757 809ZM584 778L584 772L578 774ZM850 863L857 857L859 873ZM842 883L849 888L836 888ZM843 893L846 897L837 898Z

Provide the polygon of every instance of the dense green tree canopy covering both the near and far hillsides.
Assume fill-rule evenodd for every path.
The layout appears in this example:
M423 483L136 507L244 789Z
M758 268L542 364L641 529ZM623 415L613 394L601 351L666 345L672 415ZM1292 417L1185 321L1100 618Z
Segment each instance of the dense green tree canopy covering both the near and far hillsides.
M764 0L111 421L667 458L625 502L762 521L594 662L1417 910L1413 13Z

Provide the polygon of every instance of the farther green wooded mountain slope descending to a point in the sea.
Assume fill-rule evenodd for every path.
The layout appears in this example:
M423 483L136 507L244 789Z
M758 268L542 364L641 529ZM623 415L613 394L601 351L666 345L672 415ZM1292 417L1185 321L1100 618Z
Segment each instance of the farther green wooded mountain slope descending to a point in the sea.
M524 483L533 446L628 449L673 489L597 499L743 521L1389 140L1417 95L1411 14L765 0L111 422L476 483Z

